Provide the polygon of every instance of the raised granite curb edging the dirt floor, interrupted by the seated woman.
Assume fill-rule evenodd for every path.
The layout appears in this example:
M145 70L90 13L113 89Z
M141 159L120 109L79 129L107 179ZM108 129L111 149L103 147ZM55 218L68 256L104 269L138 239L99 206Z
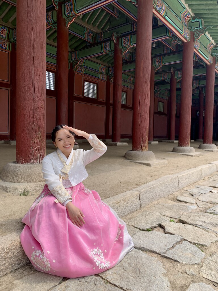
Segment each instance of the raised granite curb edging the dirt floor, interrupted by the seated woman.
M151 202L164 198L190 184L198 182L218 171L218 161L185 170L173 175L163 176L141 185L131 191L106 198L103 202L112 207L119 217L131 214ZM0 237L0 276L26 265L26 257L19 239L20 231Z

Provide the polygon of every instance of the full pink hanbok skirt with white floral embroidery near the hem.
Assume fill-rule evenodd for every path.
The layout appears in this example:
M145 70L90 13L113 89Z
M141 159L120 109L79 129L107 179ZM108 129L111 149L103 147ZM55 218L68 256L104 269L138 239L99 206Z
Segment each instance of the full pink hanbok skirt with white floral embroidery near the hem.
M67 188L72 203L85 215L81 228L45 185L22 222L22 247L33 267L67 278L101 273L117 265L134 247L126 224L96 191L82 183ZM42 198L43 197L43 198Z

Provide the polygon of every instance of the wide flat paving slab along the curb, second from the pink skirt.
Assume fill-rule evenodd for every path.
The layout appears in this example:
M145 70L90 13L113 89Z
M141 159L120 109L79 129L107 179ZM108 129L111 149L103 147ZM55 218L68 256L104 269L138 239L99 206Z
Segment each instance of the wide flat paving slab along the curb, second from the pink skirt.
M154 206L149 207L149 211L156 211L162 215L178 218L183 213L191 212L192 210L196 209L197 205L188 205L185 203L174 203L174 204L165 204L160 203Z

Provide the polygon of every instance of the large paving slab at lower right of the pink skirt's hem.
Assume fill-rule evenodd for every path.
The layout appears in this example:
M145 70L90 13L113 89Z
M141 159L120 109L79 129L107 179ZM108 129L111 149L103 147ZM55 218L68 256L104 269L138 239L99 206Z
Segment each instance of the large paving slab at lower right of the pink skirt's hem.
M165 273L158 259L133 249L117 266L99 276L126 291L171 291Z

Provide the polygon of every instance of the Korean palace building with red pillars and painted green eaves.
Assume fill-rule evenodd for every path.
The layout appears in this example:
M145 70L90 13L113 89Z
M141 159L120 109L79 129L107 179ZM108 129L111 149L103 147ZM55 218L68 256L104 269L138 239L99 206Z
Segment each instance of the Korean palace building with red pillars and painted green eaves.
M131 160L158 139L216 150L217 15L217 0L1 0L0 140L17 164L41 163L57 124L132 139Z

